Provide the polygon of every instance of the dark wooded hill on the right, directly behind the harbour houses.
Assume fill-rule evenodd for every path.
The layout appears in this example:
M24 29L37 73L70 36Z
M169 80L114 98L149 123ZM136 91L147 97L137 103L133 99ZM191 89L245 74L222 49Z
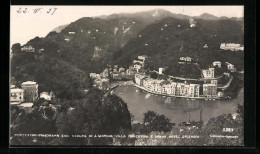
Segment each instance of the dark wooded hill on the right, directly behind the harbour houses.
M158 69L176 65L181 56L190 56L202 68L219 60L242 69L243 52L219 50L223 42L243 44L242 23L202 19L196 22L192 28L188 19L165 18L150 24L139 33L142 37L132 39L114 54L114 63L128 66L135 57L145 54L150 57L148 68ZM203 48L205 44L208 48Z

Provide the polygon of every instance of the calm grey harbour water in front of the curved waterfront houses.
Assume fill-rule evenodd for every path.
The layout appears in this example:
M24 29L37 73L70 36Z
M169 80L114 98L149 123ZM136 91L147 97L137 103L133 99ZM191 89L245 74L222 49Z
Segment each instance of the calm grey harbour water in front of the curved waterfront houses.
M114 94L121 97L128 106L135 121L142 122L143 114L147 111L155 111L167 116L172 122L179 123L190 120L200 120L202 109L202 120L208 121L211 117L223 113L233 114L236 112L237 104L244 102L244 90L239 91L238 97L232 100L191 100L185 98L163 97L149 94L132 86L121 86L115 89ZM123 94L123 95L122 95Z

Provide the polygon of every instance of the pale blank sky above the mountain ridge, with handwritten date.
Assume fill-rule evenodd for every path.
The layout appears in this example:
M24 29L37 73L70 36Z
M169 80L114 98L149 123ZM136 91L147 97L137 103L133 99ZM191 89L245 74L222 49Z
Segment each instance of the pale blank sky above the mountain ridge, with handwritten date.
M34 11L37 11L34 13ZM10 45L25 44L36 36L45 37L51 30L82 17L95 17L113 13L135 13L165 9L172 13L199 16L209 13L217 17L244 17L243 6L18 6L10 12Z

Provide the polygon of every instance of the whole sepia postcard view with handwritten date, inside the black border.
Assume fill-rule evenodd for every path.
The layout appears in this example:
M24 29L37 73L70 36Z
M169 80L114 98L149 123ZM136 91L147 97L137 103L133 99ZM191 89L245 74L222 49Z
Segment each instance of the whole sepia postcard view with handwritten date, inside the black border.
M11 5L9 69L10 146L244 146L243 5Z

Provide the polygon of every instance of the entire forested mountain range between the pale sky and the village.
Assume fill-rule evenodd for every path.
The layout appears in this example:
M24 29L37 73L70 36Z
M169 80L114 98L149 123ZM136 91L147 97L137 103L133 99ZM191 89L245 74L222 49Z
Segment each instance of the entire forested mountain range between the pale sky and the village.
M214 17L204 14L200 18L208 20L196 18L197 26L191 28L189 16L165 10L103 18L81 18L61 27L59 33L52 31L23 45L32 45L35 53L22 53L19 44L13 45L12 76L20 81L35 80L42 90L55 90L60 96L71 89L66 96L73 97L73 89L91 86L90 72L100 73L107 64L128 67L142 54L150 57L150 69L174 69L180 56L192 57L202 68L214 60L244 67L242 52L219 50L222 42L243 44L240 20L212 20L209 18ZM205 44L209 48L204 49ZM44 50L40 53L40 49Z

